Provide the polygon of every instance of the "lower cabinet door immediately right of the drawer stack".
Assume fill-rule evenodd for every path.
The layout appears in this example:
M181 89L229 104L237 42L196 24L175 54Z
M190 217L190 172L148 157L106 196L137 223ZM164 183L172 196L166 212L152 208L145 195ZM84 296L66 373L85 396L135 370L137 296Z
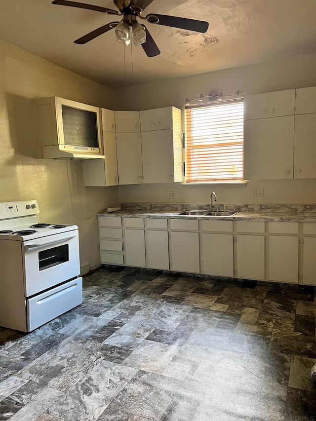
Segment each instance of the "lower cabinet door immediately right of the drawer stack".
M125 263L127 266L146 266L145 231L125 229Z

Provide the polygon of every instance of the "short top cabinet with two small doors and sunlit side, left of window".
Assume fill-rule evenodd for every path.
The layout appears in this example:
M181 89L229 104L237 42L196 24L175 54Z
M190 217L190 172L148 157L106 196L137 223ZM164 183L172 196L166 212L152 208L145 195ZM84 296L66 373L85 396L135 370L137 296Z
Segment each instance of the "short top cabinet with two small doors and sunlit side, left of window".
M140 111L140 126L142 132L173 129L181 131L181 110L175 107L157 108Z

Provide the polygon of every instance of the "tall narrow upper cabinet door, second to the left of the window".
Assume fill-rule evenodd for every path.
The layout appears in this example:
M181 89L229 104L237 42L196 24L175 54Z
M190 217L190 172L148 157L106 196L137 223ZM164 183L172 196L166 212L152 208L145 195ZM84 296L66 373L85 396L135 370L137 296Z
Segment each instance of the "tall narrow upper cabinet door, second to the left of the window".
M142 184L140 133L117 133L118 184Z

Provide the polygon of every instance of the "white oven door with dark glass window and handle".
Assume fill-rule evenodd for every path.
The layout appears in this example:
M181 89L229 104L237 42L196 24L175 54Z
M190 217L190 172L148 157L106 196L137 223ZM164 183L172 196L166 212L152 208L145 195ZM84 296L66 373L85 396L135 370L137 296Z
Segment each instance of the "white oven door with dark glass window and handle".
M26 297L80 273L78 230L25 241L23 249Z

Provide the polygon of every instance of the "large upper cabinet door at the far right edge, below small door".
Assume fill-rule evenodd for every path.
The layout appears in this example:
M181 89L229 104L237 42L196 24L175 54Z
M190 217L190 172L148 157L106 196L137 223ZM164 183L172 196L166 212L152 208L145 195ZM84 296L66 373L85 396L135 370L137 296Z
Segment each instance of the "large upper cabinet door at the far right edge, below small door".
M295 115L294 178L316 178L316 113Z

